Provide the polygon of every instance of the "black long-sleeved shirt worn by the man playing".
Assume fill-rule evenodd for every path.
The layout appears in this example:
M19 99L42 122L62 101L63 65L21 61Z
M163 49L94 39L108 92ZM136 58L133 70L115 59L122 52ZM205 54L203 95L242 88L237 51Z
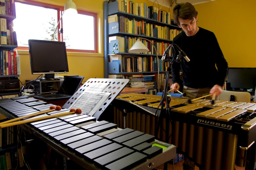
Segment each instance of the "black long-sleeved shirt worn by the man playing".
M187 36L183 31L173 39L173 43L177 44L190 59L190 62L187 62L182 58L180 62L183 85L191 88L213 87L216 84L223 86L228 63L213 32L199 27L195 35ZM173 83L181 85L180 63L172 64L172 80Z

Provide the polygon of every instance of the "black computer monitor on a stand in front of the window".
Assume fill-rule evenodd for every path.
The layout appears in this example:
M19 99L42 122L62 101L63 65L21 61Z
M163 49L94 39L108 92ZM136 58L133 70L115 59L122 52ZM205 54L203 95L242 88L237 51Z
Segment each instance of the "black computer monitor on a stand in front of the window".
M55 73L68 73L65 42L28 40L32 74L45 74L41 80L54 80Z

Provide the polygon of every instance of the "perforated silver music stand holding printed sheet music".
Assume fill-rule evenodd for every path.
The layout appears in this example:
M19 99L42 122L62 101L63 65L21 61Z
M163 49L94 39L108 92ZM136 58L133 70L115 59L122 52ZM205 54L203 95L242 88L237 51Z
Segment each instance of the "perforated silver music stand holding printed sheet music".
M82 112L98 120L128 82L129 79L90 78L65 103L63 108L80 108Z

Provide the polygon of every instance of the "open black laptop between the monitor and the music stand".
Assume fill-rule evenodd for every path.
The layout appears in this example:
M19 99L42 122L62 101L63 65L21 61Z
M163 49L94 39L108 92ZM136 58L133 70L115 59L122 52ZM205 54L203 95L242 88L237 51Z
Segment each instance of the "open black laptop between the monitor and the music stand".
M69 99L78 90L83 79L84 77L82 76L67 76L57 93L34 96L34 98L43 101Z

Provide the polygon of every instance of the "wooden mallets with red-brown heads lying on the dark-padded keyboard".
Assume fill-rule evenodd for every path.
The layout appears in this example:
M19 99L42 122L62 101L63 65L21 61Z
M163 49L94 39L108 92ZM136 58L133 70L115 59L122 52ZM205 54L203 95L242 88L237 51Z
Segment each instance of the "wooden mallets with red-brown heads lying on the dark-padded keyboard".
M81 109L79 109L79 108L73 109L72 108L72 109L69 110L69 112L57 113L57 114L54 114L54 115L43 116L43 117L40 117L40 118L22 120L22 119L30 118L30 117L33 117L33 116L41 115L41 114L44 114L44 113L49 113L49 112L52 112L52 111L55 111L55 110L61 110L61 107L60 106L56 106L56 107L55 106L50 106L49 109L46 109L46 110L43 110L43 111L32 113L32 114L22 116L22 117L19 117L19 118L7 120L7 121L4 121L4 122L1 122L0 127L5 128L5 127L9 127L9 126L15 126L15 125L23 124L23 123L29 123L29 122L33 122L33 121L39 121L39 120L44 120L44 119L49 119L49 118L54 118L54 117L59 117L59 116L65 116L65 115L74 114L74 113L78 113L78 114L82 113ZM21 121L18 121L18 120L21 120Z

